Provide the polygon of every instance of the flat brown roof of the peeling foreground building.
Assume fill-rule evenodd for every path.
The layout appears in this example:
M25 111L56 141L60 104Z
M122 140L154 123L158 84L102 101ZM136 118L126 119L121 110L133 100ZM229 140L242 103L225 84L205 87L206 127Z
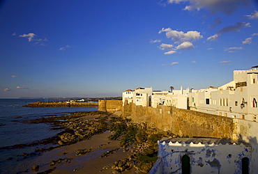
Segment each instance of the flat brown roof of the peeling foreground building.
M200 138L200 139L196 139L196 138L176 138L176 139L172 139L172 138L163 137L160 140L160 143L162 143L163 141L165 141L165 143L169 143L169 142L176 143L176 142L178 142L178 143L185 143L185 144L190 144L190 143L212 144L212 143L214 143L215 145L219 145L220 143L222 145L225 145L225 144L232 145L234 143L236 145L240 145L241 143L243 143L243 145L245 145L245 146L250 146L248 143L244 143L243 141L237 141L237 140L233 141L231 139L212 139L212 138Z

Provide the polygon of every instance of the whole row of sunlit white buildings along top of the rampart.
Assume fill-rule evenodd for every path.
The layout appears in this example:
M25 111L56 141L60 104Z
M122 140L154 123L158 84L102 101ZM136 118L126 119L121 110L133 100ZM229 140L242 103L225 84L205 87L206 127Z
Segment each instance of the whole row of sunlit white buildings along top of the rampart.
M220 86L194 90L152 90L137 88L123 92L123 104L174 106L179 109L211 113L218 116L257 121L258 66L250 70L234 70L234 80Z

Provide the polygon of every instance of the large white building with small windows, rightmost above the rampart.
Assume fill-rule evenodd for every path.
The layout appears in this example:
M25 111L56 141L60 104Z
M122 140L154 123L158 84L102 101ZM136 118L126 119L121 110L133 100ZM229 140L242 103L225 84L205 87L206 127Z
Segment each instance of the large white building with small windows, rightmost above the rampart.
M189 109L218 116L257 121L258 66L234 70L234 80L218 88L188 94Z

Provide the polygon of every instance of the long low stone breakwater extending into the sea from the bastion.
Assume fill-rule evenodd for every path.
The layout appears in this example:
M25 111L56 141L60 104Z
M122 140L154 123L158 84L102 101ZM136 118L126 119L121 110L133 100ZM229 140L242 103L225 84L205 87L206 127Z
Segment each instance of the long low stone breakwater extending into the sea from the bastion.
M33 102L26 107L98 107L98 102Z

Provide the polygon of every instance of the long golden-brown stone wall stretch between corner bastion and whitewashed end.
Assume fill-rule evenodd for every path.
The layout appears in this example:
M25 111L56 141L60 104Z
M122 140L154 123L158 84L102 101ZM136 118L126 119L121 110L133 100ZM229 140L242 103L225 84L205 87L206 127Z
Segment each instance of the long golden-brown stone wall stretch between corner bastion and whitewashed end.
M164 131L171 130L180 137L212 137L236 139L236 122L232 118L215 116L172 106L136 106L123 107L123 116L136 122L146 122L151 127Z

